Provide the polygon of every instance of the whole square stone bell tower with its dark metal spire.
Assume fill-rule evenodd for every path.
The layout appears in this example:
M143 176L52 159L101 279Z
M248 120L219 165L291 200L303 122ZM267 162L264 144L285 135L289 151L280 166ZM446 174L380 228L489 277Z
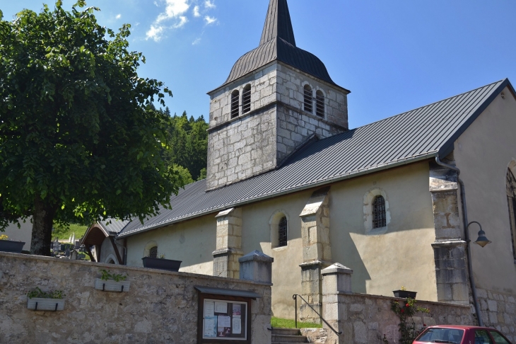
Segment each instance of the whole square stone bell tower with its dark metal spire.
M310 140L348 130L349 92L295 45L287 0L270 0L259 46L208 93L207 190L274 170Z

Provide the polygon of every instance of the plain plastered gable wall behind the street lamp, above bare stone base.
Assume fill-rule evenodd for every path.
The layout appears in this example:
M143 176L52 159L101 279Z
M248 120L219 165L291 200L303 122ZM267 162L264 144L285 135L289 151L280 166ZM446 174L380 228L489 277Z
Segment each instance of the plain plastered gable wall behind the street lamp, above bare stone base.
M482 224L493 243L471 245L476 285L516 294L516 264L512 256L505 178L516 161L516 100L505 88L455 142L455 161L464 181L468 220ZM515 171L516 172L516 171ZM475 241L479 227L469 227Z

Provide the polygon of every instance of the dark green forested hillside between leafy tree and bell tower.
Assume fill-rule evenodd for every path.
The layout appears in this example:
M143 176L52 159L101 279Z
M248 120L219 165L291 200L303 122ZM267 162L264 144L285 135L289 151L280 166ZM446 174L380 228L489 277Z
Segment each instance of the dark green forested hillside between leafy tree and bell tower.
M184 111L182 115L170 115L169 108L158 110L169 115L172 125L168 130L168 144L170 149L164 151L163 158L169 166L176 166L182 171L185 181L206 178L206 156L208 154L208 123L201 115L197 120L194 116L188 117ZM186 168L187 171L183 171ZM190 179L188 179L187 172ZM186 184L187 184L186 183Z

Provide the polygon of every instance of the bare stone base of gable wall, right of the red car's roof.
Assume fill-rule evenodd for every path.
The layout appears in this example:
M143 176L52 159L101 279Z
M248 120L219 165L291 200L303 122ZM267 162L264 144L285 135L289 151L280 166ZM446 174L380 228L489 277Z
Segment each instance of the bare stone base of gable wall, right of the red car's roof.
M483 325L496 328L511 342L516 341L516 297L511 294L476 289Z

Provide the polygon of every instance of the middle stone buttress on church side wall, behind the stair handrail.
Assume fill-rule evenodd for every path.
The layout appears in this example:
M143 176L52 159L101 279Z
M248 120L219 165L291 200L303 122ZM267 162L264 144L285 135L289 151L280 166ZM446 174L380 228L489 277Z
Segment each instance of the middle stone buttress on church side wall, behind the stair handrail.
M329 188L315 191L308 200L301 217L303 263L301 288L303 298L322 314L321 270L330 265L332 247L329 243ZM300 304L301 321L320 323L319 316L305 302Z

